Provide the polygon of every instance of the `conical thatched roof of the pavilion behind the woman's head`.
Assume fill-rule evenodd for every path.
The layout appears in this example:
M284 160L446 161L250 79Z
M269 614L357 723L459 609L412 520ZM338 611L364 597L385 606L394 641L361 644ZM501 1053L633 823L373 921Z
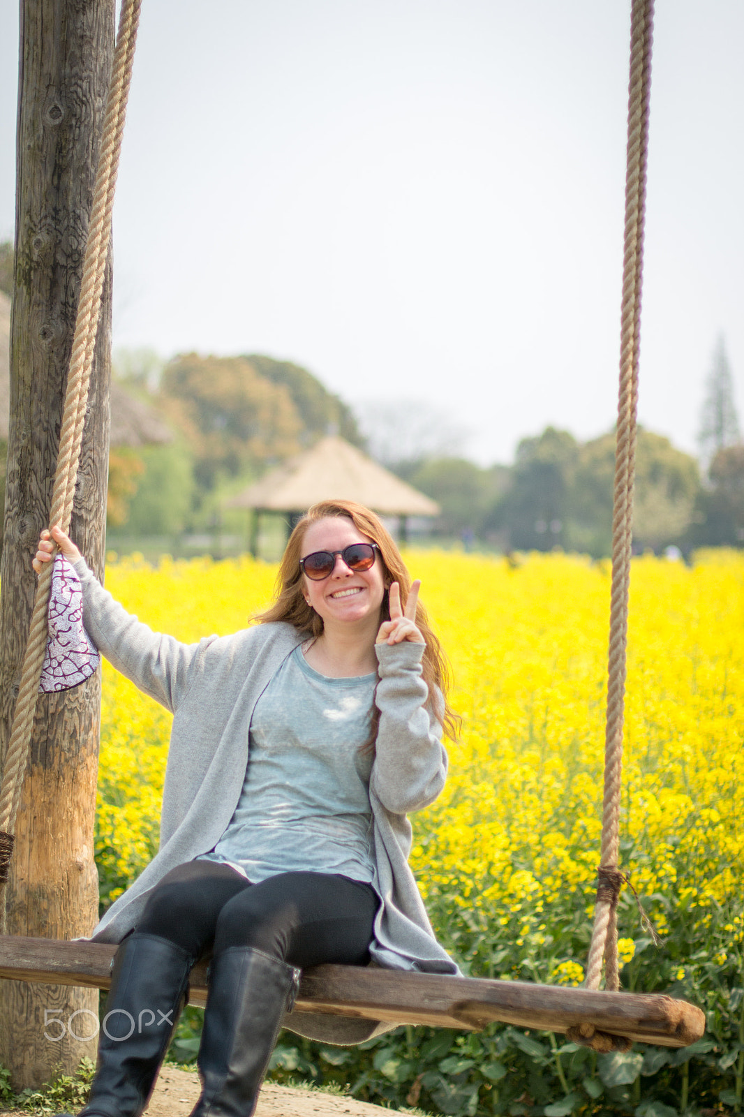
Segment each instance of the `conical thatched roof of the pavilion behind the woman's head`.
M318 500L357 500L383 516L438 516L439 505L343 438L330 437L250 485L232 508L305 512Z

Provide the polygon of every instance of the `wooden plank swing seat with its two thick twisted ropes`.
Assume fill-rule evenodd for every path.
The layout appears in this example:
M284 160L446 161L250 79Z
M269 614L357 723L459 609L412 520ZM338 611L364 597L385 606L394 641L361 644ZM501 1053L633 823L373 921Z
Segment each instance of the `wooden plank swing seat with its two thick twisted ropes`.
M141 2L124 0L122 6L84 259L50 513L50 523L60 524L64 531L69 526L73 508ZM622 884L628 879L618 867L618 853L652 18L654 0L632 0L602 844L584 987L559 989L524 982L317 966L303 974L295 1011L467 1029L502 1021L565 1032L570 1040L597 1051L627 1050L632 1040L685 1047L703 1034L705 1016L694 1005L662 995L618 993L617 905ZM4 882L45 657L51 572L53 564L47 563L39 576L0 790L0 919L3 934ZM115 947L96 943L4 937L0 939L0 976L105 989L114 952ZM605 989L600 991L603 962ZM203 1003L204 992L206 974L201 964L191 975L192 1003Z

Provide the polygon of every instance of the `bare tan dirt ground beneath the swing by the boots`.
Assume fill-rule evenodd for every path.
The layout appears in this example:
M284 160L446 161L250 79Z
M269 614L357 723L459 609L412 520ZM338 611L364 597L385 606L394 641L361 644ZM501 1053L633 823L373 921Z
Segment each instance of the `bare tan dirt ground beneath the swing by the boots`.
M147 1117L189 1117L199 1097L195 1071L163 1067L155 1092L145 1113ZM258 1099L256 1117L395 1117L398 1110L383 1109L366 1101L322 1090L297 1090L267 1082ZM2 1117L29 1117L28 1110L0 1109Z

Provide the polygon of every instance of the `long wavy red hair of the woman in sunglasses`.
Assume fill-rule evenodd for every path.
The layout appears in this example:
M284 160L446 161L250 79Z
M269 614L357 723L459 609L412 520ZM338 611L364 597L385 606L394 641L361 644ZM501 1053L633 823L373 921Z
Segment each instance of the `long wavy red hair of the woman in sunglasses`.
M323 632L323 618L311 609L305 601L303 593L303 572L299 560L303 554L303 541L305 532L311 524L318 519L327 519L333 516L345 516L351 519L357 532L366 535L369 540L380 548L379 555L383 564L385 582L398 582L400 586L401 605L406 608L408 594L411 589L411 575L408 572L400 551L390 532L373 512L365 508L355 500L321 500L308 508L295 529L289 536L279 573L276 580L276 600L265 613L260 613L256 620L261 624L270 621L284 621L292 624L298 632L307 632L308 636L319 637ZM388 590L384 592L380 609L380 623L390 620L390 601ZM459 717L449 705L447 694L450 682L450 670L447 657L442 650L437 634L429 624L426 609L419 601L416 607L416 623L426 641L423 660L421 665L423 681L429 687L435 713L441 722L448 737L455 739L459 729ZM374 709L372 737L376 735L376 723L379 710Z

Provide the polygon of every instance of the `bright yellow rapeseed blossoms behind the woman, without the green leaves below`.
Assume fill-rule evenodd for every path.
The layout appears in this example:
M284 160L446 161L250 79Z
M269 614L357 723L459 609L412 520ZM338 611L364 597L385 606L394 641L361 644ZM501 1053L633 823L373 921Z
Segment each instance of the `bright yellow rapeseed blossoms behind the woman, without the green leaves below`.
M433 920L474 973L527 965L575 983L571 944L589 925L601 824L609 564L531 555L514 567L432 551L407 561L462 716L446 792L416 820L413 867ZM106 584L152 628L190 641L245 626L275 573L250 558L152 570L134 557L109 563ZM622 858L661 935L673 909L705 923L738 897L741 910L743 665L741 555L709 552L691 569L635 561ZM107 665L104 677L98 861L109 901L156 848L170 717ZM554 919L564 930L573 920L573 937ZM722 926L729 941L718 935L717 953L741 954L735 905ZM629 962L633 941L646 946L630 901L620 933Z

